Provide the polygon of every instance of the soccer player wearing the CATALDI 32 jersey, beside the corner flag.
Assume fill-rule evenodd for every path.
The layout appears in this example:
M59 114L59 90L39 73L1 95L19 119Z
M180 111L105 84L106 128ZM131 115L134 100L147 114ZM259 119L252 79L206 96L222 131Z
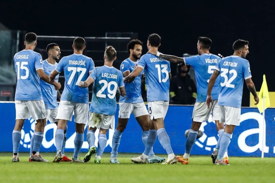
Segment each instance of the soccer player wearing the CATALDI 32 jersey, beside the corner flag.
M222 58L212 74L207 90L207 107L213 103L211 92L213 85L216 82L216 78L220 76L220 93L218 99L218 108L220 115L220 122L225 123L224 132L219 136L218 144L216 147L215 164L227 165L222 159L226 149L228 148L231 135L235 126L240 125L241 114L241 102L243 95L244 80L248 87L248 90L252 93L255 100L255 105L259 103L254 83L251 79L250 66L247 59L244 59L248 51L248 41L240 40L234 42L233 50L234 54ZM229 164L228 164L229 165Z

